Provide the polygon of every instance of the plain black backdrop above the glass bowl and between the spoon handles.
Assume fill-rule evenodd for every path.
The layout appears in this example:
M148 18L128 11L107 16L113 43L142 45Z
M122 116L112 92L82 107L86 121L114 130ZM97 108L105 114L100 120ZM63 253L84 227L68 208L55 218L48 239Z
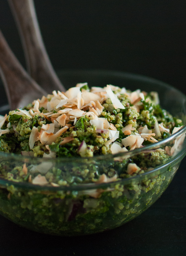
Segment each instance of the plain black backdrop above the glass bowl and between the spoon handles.
M186 93L186 1L36 0L55 70L110 69L143 74ZM7 0L0 28L24 65Z

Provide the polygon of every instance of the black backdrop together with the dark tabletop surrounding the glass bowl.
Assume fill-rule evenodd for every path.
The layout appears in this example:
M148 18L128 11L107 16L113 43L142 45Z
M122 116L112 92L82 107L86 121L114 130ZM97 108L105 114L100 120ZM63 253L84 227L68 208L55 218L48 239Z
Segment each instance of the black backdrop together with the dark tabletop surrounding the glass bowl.
M143 74L186 93L186 2L36 0L55 70L109 69ZM25 66L6 0L0 28ZM42 235L0 217L0 254L62 256L186 255L186 159L160 199L120 228L76 238Z

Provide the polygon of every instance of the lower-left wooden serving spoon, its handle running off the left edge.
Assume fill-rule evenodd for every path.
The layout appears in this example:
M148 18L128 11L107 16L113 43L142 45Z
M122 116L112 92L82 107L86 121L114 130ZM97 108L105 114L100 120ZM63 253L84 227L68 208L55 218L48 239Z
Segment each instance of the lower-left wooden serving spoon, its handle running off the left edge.
M24 70L9 48L0 30L0 75L4 83L10 110L24 107L33 100L47 95Z

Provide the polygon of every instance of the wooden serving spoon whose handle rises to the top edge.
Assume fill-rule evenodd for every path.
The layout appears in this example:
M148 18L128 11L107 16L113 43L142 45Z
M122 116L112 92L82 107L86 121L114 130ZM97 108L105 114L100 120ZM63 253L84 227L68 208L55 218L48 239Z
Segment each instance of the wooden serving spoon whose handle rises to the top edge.
M21 36L30 76L48 93L65 91L47 55L33 0L8 0Z

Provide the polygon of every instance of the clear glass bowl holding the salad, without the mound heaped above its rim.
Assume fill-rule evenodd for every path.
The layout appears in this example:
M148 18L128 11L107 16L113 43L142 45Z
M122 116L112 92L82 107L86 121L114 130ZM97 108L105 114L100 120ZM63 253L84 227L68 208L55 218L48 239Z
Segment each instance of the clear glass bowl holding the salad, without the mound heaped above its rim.
M113 229L152 205L178 170L186 154L186 97L163 82L122 72L67 70L59 72L59 77L66 88L88 82L90 87L113 84L132 91L157 91L161 107L184 123L178 132L158 143L116 155L49 159L0 152L0 214L4 217L22 227L52 235L84 235ZM5 108L2 106L1 110ZM145 161L146 172L110 183L78 184L78 178L84 178L89 172L121 173L130 159L136 158ZM71 186L62 182L55 187L16 182L13 175L2 178L3 172L21 170L24 164L30 170L28 175L34 166L40 168L41 174L60 176L63 173L66 179L74 181ZM74 170L76 176L73 176Z

